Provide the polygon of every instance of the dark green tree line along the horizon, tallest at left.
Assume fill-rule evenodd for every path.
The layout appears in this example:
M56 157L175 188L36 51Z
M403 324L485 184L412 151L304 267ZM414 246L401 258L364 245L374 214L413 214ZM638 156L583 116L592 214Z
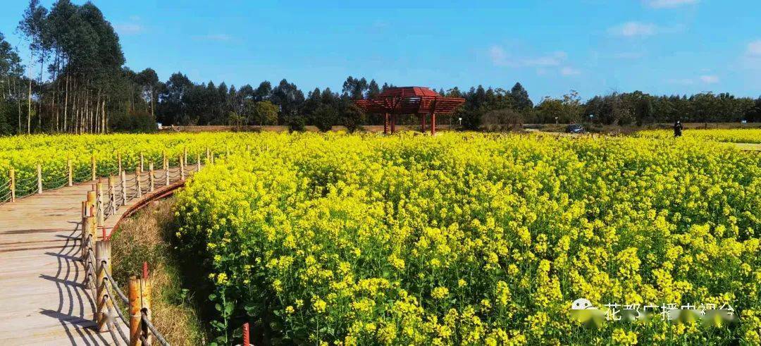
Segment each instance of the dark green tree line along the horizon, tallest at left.
M18 24L27 38L29 65L0 33L0 135L151 131L164 125L289 125L330 129L380 125L352 102L393 87L365 78L346 78L341 90L315 88L304 94L283 79L228 87L194 83L181 72L159 81L151 68L127 68L119 37L91 2L58 0L45 8L30 0ZM26 72L25 72L26 71ZM595 122L642 125L653 122L761 121L761 97L701 93L655 96L641 91L595 96L585 102L570 91L534 104L527 90L457 87L438 92L463 97L456 113L440 123L465 129L505 129L522 123ZM400 119L402 124L418 119Z

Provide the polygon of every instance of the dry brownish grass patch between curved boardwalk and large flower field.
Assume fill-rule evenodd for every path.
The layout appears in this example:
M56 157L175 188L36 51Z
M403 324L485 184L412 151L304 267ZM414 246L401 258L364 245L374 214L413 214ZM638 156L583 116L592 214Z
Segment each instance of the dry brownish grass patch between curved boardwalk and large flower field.
M127 292L131 275L142 273L148 262L151 278L153 323L173 345L206 344L197 300L195 300L183 263L176 256L171 239L174 234L174 198L154 202L123 221L111 243L113 278Z

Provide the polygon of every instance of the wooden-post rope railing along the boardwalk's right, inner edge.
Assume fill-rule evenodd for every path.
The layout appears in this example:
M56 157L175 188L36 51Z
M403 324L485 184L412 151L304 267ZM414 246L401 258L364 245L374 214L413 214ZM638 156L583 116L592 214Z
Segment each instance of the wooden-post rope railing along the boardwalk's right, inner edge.
M83 202L81 259L86 268L84 280L96 297L97 330L108 331L114 344L142 342L149 345L155 340L162 346L169 345L151 322L147 264L144 263L142 277L130 278L128 297L110 273L110 235L103 228L103 222L118 214L132 200L161 191L161 186L183 181L200 169L198 164L189 167L184 164L185 160L178 161L179 167L168 167L165 160L167 165L163 170L153 170L153 164L149 163L148 172L137 169L129 177L125 171L117 172L108 179L108 186L99 181ZM99 227L102 235L97 234ZM123 313L122 307L129 311L129 316ZM129 330L129 335L125 330Z

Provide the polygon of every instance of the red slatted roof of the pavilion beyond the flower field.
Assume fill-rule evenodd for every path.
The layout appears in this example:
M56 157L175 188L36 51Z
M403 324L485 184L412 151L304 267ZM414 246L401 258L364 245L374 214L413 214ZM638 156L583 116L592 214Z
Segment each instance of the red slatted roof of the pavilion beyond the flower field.
M368 113L442 114L454 112L465 99L443 97L428 87L387 87L376 97L355 102Z

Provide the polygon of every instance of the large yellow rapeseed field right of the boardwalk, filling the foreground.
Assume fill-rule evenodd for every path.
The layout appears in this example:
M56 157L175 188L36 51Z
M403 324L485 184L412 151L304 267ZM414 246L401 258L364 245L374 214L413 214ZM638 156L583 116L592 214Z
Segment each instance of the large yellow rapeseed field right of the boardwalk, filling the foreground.
M761 343L757 153L668 135L251 140L177 202L220 329L256 319L282 344ZM737 318L592 327L571 316L578 298Z

